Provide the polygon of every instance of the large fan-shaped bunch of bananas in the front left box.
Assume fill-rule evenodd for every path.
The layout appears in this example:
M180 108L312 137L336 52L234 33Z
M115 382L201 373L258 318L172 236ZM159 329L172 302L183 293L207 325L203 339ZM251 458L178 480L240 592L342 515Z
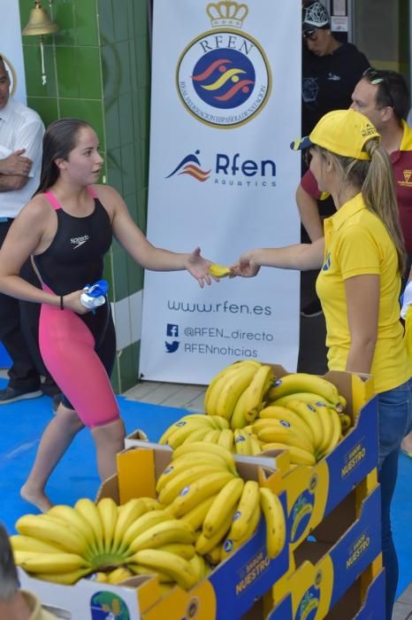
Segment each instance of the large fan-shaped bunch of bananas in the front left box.
M109 583L131 574L161 574L162 580L192 588L198 574L190 563L195 532L152 498L117 506L78 500L45 515L24 515L11 536L16 564L45 581L71 585L89 574Z

